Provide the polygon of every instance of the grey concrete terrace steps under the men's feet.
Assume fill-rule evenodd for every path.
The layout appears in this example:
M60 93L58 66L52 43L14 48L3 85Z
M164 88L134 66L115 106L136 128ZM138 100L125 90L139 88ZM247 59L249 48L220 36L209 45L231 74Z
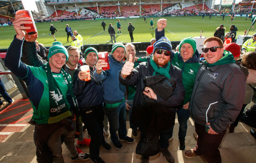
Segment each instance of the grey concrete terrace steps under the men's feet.
M127 128L129 121L127 121ZM235 133L228 133L222 140L220 151L222 155L222 163L255 163L256 162L256 139L249 133L249 127L246 124L239 123L235 129ZM27 124L20 132L15 132L5 138L0 143L0 162L3 163L36 163L35 145L33 140L34 126ZM169 151L175 158L175 163L205 163L200 156L187 158L184 156L184 151L178 150L178 121L175 119L174 139L169 142ZM195 132L194 122L191 118L188 121L188 131L186 142L186 150L195 147ZM84 132L85 137L88 137L87 131ZM140 133L139 133L140 135ZM131 136L131 129L128 128L128 136ZM135 138L134 143L122 142L121 150L115 149L115 146L110 141L110 136L105 137L105 140L110 143L112 150L105 151L100 149L100 156L106 163L141 163L141 156L135 154L136 144L139 138ZM65 144L62 145L62 154L65 163L73 163L68 154ZM87 145L81 145L80 149L84 152L89 152ZM75 161L76 163L84 163L84 161ZM167 163L162 153L150 157L150 163ZM89 163L87 161L86 163Z

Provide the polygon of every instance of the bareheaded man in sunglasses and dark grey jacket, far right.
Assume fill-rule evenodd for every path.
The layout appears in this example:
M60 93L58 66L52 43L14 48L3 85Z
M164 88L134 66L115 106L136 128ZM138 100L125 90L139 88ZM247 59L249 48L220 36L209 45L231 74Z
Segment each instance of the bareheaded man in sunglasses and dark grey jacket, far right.
M198 138L195 148L184 154L189 158L203 156L208 163L221 163L218 147L229 124L241 111L246 76L233 55L223 49L221 39L209 37L203 47L205 62L196 74L189 102Z

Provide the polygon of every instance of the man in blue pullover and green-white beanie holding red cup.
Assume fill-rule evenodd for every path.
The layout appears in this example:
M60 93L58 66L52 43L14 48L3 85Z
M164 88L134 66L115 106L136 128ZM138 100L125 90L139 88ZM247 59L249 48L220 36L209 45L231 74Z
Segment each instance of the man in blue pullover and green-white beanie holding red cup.
M96 71L94 71L95 81L102 81L104 110L109 121L111 142L118 150L123 147L120 141L134 142L133 138L127 136L125 86L121 85L118 80L118 73L123 66L122 60L125 53L125 46L121 43L115 43L112 46L112 54L108 55L110 69L103 71L102 67L107 67L108 63L99 59L96 64ZM116 135L117 130L119 139Z

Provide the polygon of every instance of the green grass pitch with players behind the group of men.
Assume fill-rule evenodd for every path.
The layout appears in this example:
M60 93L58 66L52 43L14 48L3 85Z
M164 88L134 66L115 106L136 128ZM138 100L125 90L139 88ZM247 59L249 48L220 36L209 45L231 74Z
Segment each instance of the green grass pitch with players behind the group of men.
M250 20L245 20L245 18L236 17L233 23L230 23L230 17L226 16L224 20L219 16L210 20L208 16L202 20L201 16L191 16L188 17L161 17L167 19L167 27L165 29L165 36L171 41L179 41L186 37L196 37L200 36L200 31L203 31L202 36L210 37L216 30L216 27L221 24L226 27L225 32L229 32L229 26L234 24L237 26L237 35L243 35L244 31L249 28ZM160 17L153 17L154 29L157 27L156 22ZM131 22L135 27L134 30L134 42L149 42L150 39L155 38L155 31L149 30L150 18L147 18L147 22L143 21L143 18L128 18L126 21L121 19L121 35L117 35L116 21L117 19L104 20L107 24L106 31L103 31L101 27L102 20L85 20L85 21L67 21L67 22L45 22L36 23L38 30L38 42L44 44L45 46L51 46L54 42L52 36L48 35L50 24L53 24L59 33L55 33L57 41L60 41L63 45L71 45L72 39L69 38L70 42L67 42L67 33L65 32L66 24L72 28L72 30L77 30L79 34L83 37L83 44L109 44L110 36L108 34L108 25L112 23L116 32L117 42L130 42L130 36L127 30L128 22ZM45 34L44 36L42 34ZM13 26L4 26L0 30L0 49L6 49L9 47L15 30ZM253 35L254 31L250 31L249 35Z

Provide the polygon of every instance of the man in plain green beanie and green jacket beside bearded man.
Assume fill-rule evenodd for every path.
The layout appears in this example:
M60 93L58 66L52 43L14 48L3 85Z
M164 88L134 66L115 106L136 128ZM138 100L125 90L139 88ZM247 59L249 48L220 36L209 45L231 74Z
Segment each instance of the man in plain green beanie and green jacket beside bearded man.
M157 21L157 28L155 30L156 38L164 35L164 28L167 26L167 20L160 19ZM176 52L171 60L172 65L179 67L182 70L182 83L186 90L183 105L177 111L179 122L179 150L185 150L185 138L188 128L189 119L189 100L195 83L195 76L200 67L200 55L196 50L196 42L191 37L182 39L179 45L179 52ZM173 139L173 128L170 131L169 140Z

